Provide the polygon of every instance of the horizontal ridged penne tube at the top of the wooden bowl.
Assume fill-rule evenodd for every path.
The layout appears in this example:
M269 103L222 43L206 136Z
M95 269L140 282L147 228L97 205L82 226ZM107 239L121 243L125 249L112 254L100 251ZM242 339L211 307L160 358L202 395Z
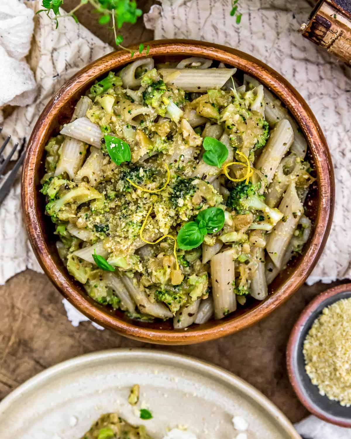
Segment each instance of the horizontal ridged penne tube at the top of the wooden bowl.
M161 68L158 71L166 84L193 92L221 88L235 72L236 68Z

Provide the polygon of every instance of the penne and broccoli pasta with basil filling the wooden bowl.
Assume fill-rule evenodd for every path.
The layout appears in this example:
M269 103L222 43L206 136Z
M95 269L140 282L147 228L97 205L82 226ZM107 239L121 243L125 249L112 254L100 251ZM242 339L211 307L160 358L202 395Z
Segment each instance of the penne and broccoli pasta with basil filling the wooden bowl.
M68 272L100 304L176 329L263 300L312 224L307 143L256 79L203 58L131 62L46 146Z

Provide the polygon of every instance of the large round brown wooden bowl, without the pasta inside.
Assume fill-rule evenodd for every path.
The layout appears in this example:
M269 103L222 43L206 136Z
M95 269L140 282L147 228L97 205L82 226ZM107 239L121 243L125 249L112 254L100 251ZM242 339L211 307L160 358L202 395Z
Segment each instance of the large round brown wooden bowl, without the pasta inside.
M22 207L29 239L43 270L61 294L77 309L98 324L122 335L160 344L190 344L232 334L267 316L294 294L315 265L328 237L333 216L334 176L326 139L312 111L286 79L251 55L218 44L193 40L151 41L148 56L159 60L201 56L233 65L267 86L290 110L309 145L310 159L315 163L316 184L308 201L314 230L303 254L281 273L270 286L269 296L262 302L249 299L247 306L222 320L174 330L170 322L143 323L129 320L122 312L100 306L86 295L82 286L71 277L57 254L53 225L44 215L45 200L39 193L39 180L44 174L44 146L61 124L71 118L79 96L97 78L131 61L127 51L112 52L76 73L51 99L40 115L28 142L22 175ZM132 47L135 49L136 47ZM133 59L144 58L136 51Z

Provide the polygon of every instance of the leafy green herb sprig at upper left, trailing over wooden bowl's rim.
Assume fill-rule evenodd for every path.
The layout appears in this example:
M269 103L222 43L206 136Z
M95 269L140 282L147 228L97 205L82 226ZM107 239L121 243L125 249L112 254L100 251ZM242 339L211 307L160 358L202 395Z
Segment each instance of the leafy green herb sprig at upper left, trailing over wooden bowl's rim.
M56 29L58 27L58 19L64 17L72 17L76 23L78 18L75 12L78 11L85 4L90 4L94 8L94 12L99 14L98 22L100 25L108 25L112 20L112 28L115 34L115 43L124 50L128 50L131 57L134 56L134 51L122 46L123 36L117 34L117 29L121 29L124 23L135 24L136 20L141 17L143 11L136 5L135 0L80 0L79 4L74 7L67 14L60 14L60 7L64 0L42 0L42 7L37 11L37 14L44 12L47 16L56 22ZM139 45L139 53L144 50L144 45ZM146 54L149 53L150 47L147 45Z

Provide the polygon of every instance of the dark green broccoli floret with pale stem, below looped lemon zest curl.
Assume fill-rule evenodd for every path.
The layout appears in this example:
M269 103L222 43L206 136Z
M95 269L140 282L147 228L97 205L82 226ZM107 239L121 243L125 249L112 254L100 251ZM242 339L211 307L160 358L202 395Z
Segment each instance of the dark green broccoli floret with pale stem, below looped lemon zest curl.
M263 212L265 219L267 219L271 225L275 225L282 219L283 214L279 212L278 209L268 207L262 200L262 195L257 193L258 189L259 187L254 186L251 182L248 184L240 182L230 191L226 205L239 215L249 211L259 210Z

